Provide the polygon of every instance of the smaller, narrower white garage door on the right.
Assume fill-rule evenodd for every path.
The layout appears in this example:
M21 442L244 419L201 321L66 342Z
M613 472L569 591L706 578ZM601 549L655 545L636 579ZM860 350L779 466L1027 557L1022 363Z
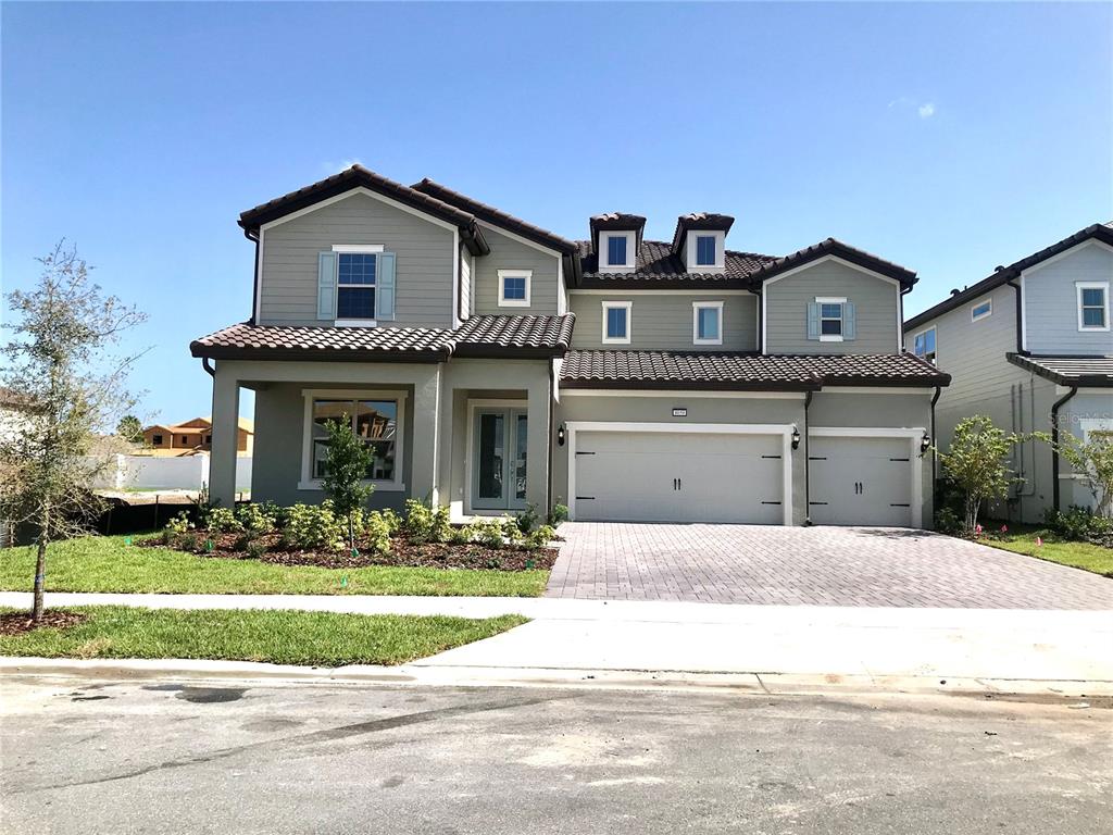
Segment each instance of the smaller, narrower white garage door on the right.
M815 524L912 524L912 444L907 438L814 436L808 504Z

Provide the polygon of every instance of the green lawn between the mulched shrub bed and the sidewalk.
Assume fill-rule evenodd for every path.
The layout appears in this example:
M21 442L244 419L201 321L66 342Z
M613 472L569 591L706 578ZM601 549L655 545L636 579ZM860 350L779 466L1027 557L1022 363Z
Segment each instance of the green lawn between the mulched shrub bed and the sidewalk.
M546 570L493 571L370 567L331 569L197 557L126 544L127 537L82 537L50 546L48 591L173 595L420 595L538 597ZM0 551L0 590L30 591L31 548ZM344 584L346 581L346 584Z

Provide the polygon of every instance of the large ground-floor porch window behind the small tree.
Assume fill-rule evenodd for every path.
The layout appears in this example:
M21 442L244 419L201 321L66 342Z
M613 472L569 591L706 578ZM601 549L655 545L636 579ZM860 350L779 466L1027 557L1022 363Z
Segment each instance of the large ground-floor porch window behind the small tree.
M367 481L381 488L398 487L402 480L402 410L405 395L400 392L306 392L306 454L303 489L319 488L328 471L329 421L352 428L371 452L365 473Z

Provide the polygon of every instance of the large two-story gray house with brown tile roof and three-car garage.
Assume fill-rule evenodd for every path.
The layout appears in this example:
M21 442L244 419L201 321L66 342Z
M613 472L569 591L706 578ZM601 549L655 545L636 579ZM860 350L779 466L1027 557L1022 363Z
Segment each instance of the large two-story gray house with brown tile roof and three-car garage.
M214 499L233 499L247 387L255 499L318 501L343 418L377 505L929 522L948 377L902 350L915 274L830 238L733 252L726 215L682 215L671 240L644 223L599 215L569 240L361 166L245 212L252 317L190 345L214 377Z

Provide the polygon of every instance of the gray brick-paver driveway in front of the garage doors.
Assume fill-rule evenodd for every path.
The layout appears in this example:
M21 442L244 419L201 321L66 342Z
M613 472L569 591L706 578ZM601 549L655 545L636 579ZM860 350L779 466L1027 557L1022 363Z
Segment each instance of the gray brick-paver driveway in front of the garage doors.
M927 531L565 522L548 597L1113 609L1113 580Z

